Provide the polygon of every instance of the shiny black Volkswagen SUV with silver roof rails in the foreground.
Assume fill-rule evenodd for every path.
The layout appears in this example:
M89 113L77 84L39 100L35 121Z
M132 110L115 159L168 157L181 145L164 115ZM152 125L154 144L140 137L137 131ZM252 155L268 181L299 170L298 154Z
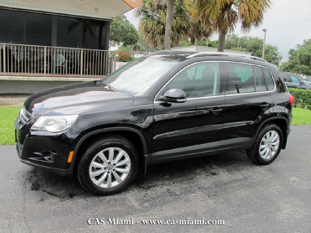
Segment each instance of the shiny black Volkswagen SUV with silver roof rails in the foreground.
M246 150L266 165L286 147L293 101L260 58L161 51L29 97L15 122L17 153L102 195L155 163Z

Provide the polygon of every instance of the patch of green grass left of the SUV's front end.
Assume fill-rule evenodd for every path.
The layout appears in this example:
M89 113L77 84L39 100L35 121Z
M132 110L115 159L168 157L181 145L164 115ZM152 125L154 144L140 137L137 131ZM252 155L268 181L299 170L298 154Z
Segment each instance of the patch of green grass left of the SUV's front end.
M0 107L0 145L15 143L14 121L21 107Z

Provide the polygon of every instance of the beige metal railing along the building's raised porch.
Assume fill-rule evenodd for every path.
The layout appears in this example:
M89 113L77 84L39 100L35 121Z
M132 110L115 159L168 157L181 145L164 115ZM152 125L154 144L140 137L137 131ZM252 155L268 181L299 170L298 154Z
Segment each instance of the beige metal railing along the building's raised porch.
M115 70L115 56L108 50L0 43L0 75L106 76Z

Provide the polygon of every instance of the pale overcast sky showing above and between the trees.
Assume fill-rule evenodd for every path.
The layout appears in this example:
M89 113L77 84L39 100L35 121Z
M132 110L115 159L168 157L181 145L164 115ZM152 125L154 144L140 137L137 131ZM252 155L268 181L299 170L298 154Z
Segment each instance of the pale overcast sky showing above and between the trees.
M138 28L138 18L134 10L125 13L127 19ZM288 51L297 44L302 44L304 39L311 38L311 0L273 0L273 6L264 14L262 24L253 28L249 33L242 33L238 24L234 34L240 36L262 37L262 29L267 29L266 43L276 45L287 61ZM213 34L210 40L217 40L218 35Z

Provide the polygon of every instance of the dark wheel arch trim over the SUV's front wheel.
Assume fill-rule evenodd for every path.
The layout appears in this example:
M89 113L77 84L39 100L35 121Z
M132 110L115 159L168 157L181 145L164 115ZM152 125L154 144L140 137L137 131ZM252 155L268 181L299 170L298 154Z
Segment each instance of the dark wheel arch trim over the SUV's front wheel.
M85 146L88 145L90 142L92 142L93 139L98 138L100 136L107 135L109 133L123 136L124 138L129 140L131 143L133 143L135 148L138 150L139 168L146 169L145 155L147 155L148 150L147 150L147 144L146 144L143 134L139 132L137 129L133 129L130 127L112 127L112 128L105 128L105 129L99 129L99 130L92 131L84 135L79 140L79 142L75 146L73 156L72 156L72 162L70 165L70 169L72 170L72 172L75 171L75 168L79 162L81 151L85 149Z

